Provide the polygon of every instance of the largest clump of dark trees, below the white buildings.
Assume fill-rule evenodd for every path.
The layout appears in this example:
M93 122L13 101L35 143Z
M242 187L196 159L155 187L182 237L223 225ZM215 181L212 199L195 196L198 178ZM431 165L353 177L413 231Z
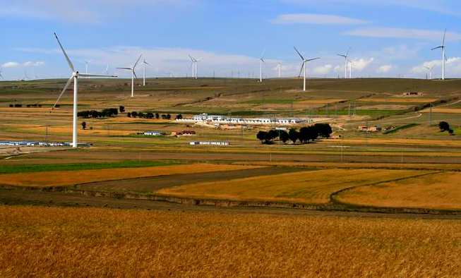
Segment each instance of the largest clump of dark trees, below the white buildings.
M318 137L329 138L332 133L331 126L328 123L316 123L313 126L304 126L299 128L290 128L289 131L271 130L259 131L256 138L263 144L273 144L273 140L278 138L284 144L291 140L293 144L297 141L301 144L313 142Z

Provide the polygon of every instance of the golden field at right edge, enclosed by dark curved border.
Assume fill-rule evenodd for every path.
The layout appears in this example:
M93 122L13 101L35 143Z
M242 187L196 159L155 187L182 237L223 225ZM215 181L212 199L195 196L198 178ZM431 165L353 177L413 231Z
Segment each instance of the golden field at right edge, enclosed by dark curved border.
M340 194L338 200L379 207L461 210L461 173L444 172L354 188Z

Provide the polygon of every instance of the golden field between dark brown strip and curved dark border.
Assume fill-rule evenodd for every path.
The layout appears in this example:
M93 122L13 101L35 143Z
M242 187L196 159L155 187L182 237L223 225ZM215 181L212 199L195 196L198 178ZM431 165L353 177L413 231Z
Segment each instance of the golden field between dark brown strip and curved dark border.
M164 188L157 193L225 200L276 200L328 203L330 195L352 186L416 176L417 171L328 169L272 176L256 176L215 183Z

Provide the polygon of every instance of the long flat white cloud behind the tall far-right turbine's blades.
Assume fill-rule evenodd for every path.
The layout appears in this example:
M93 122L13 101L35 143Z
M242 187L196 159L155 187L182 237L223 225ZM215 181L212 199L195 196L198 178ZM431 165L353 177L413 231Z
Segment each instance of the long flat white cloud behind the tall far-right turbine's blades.
M427 40L441 42L444 31L417 30L404 28L362 28L343 32L343 35L358 37L396 37L400 39ZM461 34L457 32L447 32L447 41L455 42L461 40Z

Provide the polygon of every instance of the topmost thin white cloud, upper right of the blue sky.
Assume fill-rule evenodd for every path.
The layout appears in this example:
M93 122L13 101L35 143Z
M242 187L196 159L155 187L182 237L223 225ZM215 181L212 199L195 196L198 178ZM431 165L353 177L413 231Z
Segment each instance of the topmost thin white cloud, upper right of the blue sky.
M272 20L276 24L317 24L317 25L359 25L366 24L368 21L357 18L345 18L343 16L331 16L313 13L289 13L279 15Z

